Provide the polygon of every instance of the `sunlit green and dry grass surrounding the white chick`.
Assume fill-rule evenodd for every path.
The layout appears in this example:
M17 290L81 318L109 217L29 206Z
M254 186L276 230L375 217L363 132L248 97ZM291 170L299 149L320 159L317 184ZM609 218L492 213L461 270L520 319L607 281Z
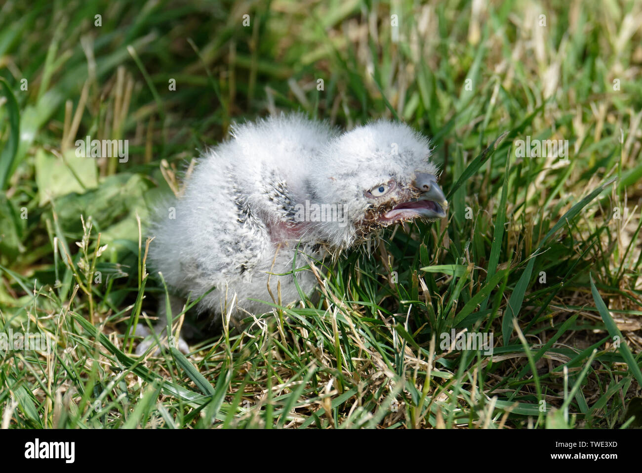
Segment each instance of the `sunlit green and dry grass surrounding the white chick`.
M641 425L641 24L634 1L4 3L0 330L49 350L0 350L1 425ZM318 302L138 359L147 204L231 121L294 109L433 137L448 218L319 267ZM76 157L88 135L129 160Z

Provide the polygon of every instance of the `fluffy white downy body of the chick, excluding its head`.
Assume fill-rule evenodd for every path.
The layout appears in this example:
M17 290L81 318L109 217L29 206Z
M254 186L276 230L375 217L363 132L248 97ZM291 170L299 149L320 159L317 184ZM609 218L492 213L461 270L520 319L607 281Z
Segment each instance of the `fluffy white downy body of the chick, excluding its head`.
M200 310L266 312L269 307L250 299L274 302L278 280L283 301L299 297L291 275L272 276L292 271L297 241L287 213L295 202L288 199L304 195L308 176L301 170L336 134L324 123L299 118L236 127L234 138L200 159L175 210L159 210L150 266L181 296L195 299L215 287ZM304 258L297 265L306 265ZM309 271L297 276L311 289Z

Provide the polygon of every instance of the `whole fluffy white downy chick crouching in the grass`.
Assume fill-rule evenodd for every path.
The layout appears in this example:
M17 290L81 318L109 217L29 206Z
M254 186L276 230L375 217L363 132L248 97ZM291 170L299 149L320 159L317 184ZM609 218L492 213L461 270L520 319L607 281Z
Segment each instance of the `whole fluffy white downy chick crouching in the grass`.
M300 299L297 283L305 294L315 288L302 269L310 261L398 222L446 216L430 156L428 139L385 120L344 133L300 114L237 125L200 159L183 197L159 210L148 266L176 296L207 292L196 307L213 317L288 305ZM173 316L181 310L172 298ZM188 349L182 340L178 348Z

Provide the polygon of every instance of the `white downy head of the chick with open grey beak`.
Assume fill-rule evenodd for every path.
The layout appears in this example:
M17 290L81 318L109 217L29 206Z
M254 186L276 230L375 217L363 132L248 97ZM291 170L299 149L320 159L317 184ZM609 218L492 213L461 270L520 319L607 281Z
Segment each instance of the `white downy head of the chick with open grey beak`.
M428 139L403 123L374 121L331 141L309 178L311 200L342 210L317 230L335 247L414 219L446 216Z

